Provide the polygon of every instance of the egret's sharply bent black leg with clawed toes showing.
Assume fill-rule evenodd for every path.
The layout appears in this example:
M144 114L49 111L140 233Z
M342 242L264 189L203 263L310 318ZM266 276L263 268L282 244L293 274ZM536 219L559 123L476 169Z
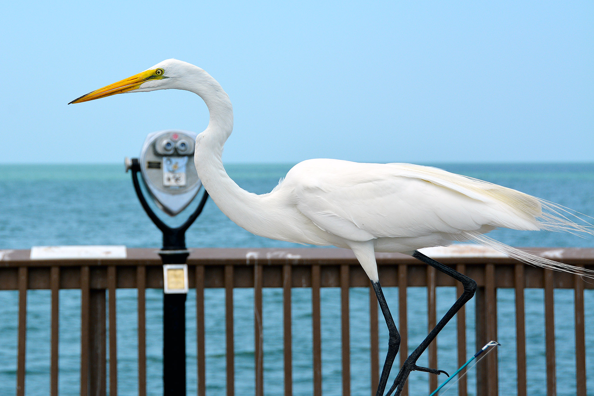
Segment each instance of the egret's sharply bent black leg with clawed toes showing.
M412 256L432 266L433 268L438 269L444 274L450 275L457 281L462 282L462 285L464 286L464 293L462 293L462 296L460 296L460 298L456 300L456 302L453 306L451 306L448 312L445 313L444 317L441 318L439 323L437 323L437 326L435 326L435 328L432 329L431 332L429 332L429 335L427 335L425 340L421 342L421 345L419 345L413 351L413 353L411 353L409 357L406 358L405 364L403 364L402 368L400 369L400 372L396 376L396 380L394 380L394 384L391 386L386 396L389 396L394 391L394 389L396 389L396 393L394 394L394 396L399 396L400 392L402 392L402 389L410 372L414 370L426 371L434 374L439 374L440 372L442 372L441 370L427 369L426 367L418 367L416 365L416 361L417 359L419 359L419 356L421 356L421 354L426 350L429 344L431 344L431 341L433 341L435 337L437 337L437 334L441 331L441 329L444 328L446 323L449 322L450 319L453 318L454 315L456 315L456 313L460 310L460 308L462 308L462 306L466 304L466 302L470 300L472 296L475 295L476 291L476 282L470 279L468 276L462 275L460 274L460 272L454 271L450 267L445 266L442 263L437 262L434 259L431 259L425 256L425 254L420 253L416 250Z

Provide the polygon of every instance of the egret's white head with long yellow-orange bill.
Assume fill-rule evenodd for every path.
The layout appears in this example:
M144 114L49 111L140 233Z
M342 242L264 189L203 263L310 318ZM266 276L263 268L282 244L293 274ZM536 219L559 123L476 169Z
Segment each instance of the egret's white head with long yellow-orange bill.
M124 78L117 83L109 84L103 88L89 92L70 103L87 102L93 99L105 98L116 93L125 92L148 92L157 89L179 88L179 80L188 77L190 74L205 73L199 67L177 59L167 59L159 62L145 71L141 71L132 77ZM68 103L68 104L70 104Z

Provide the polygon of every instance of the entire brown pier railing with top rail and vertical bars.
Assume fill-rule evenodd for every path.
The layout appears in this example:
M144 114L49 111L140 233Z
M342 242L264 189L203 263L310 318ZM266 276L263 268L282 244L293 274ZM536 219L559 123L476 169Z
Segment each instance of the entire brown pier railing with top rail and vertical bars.
M189 283L195 288L196 337L197 337L197 389L198 395L206 394L206 356L204 289L225 289L226 326L226 392L235 394L235 367L233 347L233 288L254 289L254 359L255 394L264 394L264 348L263 348L263 288L276 287L283 291L283 362L285 395L292 395L292 329L291 293L293 288L311 288L312 316L312 372L314 395L322 394L322 337L320 288L340 288L340 316L342 350L342 394L350 391L350 336L349 336L349 288L369 287L369 280L349 250L342 249L190 249L188 259ZM530 249L545 254L551 249ZM0 254L2 257L2 254ZM594 249L555 250L555 259L577 266L594 269ZM507 257L439 257L438 260L452 266L478 283L475 296L476 346L497 339L497 289L511 288L515 293L516 311L516 364L517 394L527 394L526 380L526 325L525 289L544 289L545 304L545 350L546 394L556 394L554 298L555 288L574 290L575 312L575 376L576 394L586 396L586 344L584 329L584 288L594 288L580 276L544 271L524 265ZM398 287L399 331L402 337L400 362L407 355L407 287L427 287L428 327L437 320L436 288L462 286L452 278L436 272L418 260L401 254L377 254L380 279L384 288ZM81 363L80 394L105 395L107 361L117 356L116 342L116 289L137 288L138 297L138 394L147 394L146 376L146 288L162 288L163 273L156 249L128 249L127 259L97 260L30 260L29 250L4 251L0 259L0 290L18 290L18 356L17 395L24 395L26 376L26 307L27 290L51 290L50 313L50 394L58 395L58 329L60 289L81 290ZM107 294L107 298L106 298ZM106 301L107 300L107 301ZM106 306L107 304L107 306ZM106 315L109 312L109 315ZM106 323L108 328L106 329ZM457 320L457 364L461 366L467 356L474 352L466 350L466 312L463 308ZM371 357L371 389L379 379L380 340L377 302L369 288L369 328ZM109 337L106 337L109 330ZM428 349L429 367L437 366L437 344ZM117 394L118 370L116 359L110 359L109 394ZM486 357L486 364L478 367L476 394L498 394L497 351ZM398 366L395 364L395 366ZM362 375L358 372L357 375ZM437 377L429 376L429 388L437 387ZM462 378L458 394L467 394L468 384ZM406 391L404 392L406 394Z

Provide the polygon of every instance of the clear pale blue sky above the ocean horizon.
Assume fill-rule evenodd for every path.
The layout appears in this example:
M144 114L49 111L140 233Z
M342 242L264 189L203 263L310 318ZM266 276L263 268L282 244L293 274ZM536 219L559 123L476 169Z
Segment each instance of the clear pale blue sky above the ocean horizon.
M594 159L594 3L9 2L0 162L120 163L200 98L70 100L167 58L229 93L225 162Z

